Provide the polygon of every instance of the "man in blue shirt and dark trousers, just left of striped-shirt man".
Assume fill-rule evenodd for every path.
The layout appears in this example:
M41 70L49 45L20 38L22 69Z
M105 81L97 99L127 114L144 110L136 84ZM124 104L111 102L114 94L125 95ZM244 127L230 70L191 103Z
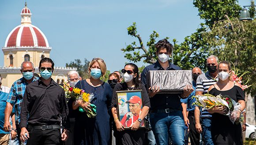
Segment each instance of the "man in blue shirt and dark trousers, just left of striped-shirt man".
M196 98L192 98L192 96L195 96L196 94L196 79L197 77L202 74L202 71L200 68L195 67L192 69L192 85L194 91L188 96L188 98L181 99L181 105L186 110L183 114L185 125L189 127L189 138L191 145L199 145L200 143L200 133L196 131L195 128L195 117L194 117L194 110L195 105L192 105L196 101Z

